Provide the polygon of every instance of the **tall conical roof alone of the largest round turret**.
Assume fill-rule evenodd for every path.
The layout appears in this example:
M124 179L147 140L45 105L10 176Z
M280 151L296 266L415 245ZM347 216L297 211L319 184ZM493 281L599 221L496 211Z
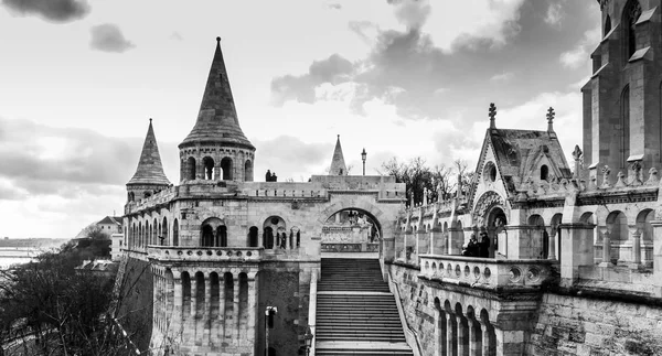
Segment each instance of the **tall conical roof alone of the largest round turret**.
M221 37L216 37L216 52L200 104L197 121L180 148L192 142L225 143L255 150L239 127L221 51Z

